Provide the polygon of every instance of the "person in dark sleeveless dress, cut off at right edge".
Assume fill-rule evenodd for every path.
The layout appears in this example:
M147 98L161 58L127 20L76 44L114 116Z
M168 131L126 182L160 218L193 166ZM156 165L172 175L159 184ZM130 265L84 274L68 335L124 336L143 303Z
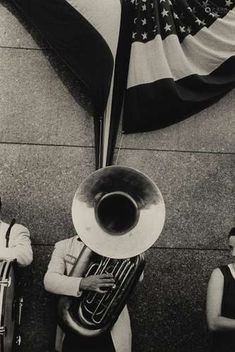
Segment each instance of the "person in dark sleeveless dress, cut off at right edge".
M235 256L235 227L229 232ZM235 351L235 263L213 270L207 287L207 324L212 332L211 352Z

